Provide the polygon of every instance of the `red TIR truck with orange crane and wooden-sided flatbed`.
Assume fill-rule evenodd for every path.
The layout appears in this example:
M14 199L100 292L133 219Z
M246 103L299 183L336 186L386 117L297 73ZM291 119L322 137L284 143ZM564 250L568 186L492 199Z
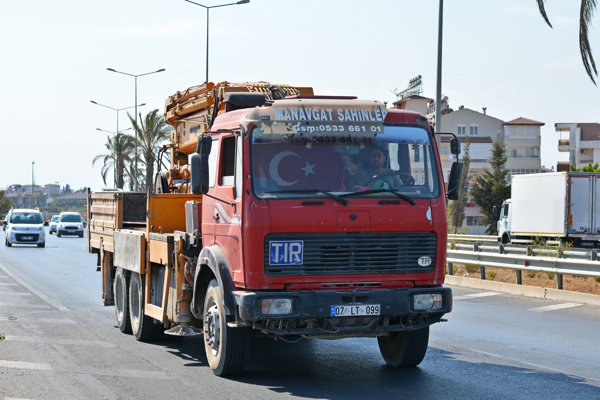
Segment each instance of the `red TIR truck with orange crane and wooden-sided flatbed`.
M205 83L166 100L170 169L142 192L88 190L103 305L139 341L203 335L215 375L252 336L377 338L415 366L444 321L448 187L419 113L309 87ZM454 154L460 141L451 141Z

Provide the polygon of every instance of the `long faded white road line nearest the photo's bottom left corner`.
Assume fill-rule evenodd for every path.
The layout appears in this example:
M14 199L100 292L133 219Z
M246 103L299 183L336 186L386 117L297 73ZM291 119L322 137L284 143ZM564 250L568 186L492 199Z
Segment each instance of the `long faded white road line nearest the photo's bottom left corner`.
M39 369L41 371L73 372L75 374L108 375L110 377L171 379L162 371L143 371L141 369L94 368L80 365L55 365L37 362L0 360L0 367Z

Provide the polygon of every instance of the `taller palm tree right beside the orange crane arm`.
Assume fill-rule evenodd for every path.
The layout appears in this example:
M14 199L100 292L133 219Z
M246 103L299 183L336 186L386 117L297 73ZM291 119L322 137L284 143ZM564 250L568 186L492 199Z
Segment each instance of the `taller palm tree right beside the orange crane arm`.
M143 158L146 167L145 187L154 188L154 163L157 162L156 156L161 143L169 139L171 128L164 123L164 116L158 115L158 109L146 114L145 118L142 118L142 113L140 113L139 124L131 118L129 113L127 115L137 133L137 146L142 151L140 158ZM160 169L160 166L158 166L158 169Z

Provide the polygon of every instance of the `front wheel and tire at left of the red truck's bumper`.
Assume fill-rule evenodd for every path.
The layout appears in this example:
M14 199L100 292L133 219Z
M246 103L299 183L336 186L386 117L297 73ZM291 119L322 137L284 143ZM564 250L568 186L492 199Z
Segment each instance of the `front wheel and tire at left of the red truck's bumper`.
M215 279L208 284L204 300L204 349L212 372L219 377L242 374L250 358L251 327L227 326L223 294Z

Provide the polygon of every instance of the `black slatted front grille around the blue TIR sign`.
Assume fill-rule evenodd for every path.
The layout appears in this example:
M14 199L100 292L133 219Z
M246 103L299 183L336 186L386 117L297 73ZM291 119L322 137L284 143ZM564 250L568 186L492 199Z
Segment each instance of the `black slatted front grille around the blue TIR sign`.
M269 265L269 242L302 240L302 264ZM267 276L355 275L432 272L435 233L277 233L265 237ZM420 266L420 257L430 257Z

